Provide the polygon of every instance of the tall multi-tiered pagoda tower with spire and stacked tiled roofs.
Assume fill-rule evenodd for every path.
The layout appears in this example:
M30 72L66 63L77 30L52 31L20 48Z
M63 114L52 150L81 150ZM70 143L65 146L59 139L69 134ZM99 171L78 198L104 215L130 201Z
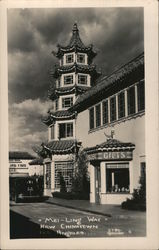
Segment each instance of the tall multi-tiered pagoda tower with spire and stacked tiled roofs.
M44 158L44 195L60 191L60 179L71 189L76 157L81 143L76 139L77 113L71 111L79 95L95 85L100 73L92 64L96 52L93 45L85 46L77 24L67 46L57 45L53 55L59 64L50 71L52 87L48 96L53 109L43 122L48 126L48 142L42 143L38 154Z

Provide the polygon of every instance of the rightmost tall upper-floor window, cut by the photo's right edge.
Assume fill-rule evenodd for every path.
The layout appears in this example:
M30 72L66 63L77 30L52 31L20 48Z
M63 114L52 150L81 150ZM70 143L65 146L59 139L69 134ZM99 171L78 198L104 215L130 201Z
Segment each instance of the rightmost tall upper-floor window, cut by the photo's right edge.
M145 85L144 81L137 85L138 111L145 109Z

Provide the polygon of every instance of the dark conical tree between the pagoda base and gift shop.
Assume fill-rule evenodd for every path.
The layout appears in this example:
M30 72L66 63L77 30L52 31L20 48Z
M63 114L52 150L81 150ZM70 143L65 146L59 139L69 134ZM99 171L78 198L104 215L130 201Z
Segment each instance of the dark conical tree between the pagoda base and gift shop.
M89 177L87 155L82 150L78 154L76 169L72 180L72 192L89 194Z

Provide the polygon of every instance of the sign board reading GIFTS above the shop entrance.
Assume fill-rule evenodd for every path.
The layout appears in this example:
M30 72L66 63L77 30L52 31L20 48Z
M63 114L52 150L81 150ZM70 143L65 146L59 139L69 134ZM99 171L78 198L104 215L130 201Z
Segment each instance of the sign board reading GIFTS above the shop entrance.
M88 160L131 160L132 151L98 152L88 155Z

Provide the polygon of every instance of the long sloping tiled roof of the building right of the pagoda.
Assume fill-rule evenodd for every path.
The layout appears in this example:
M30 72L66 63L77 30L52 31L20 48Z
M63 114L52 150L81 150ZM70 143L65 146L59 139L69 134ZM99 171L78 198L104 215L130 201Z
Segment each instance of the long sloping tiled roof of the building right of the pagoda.
M142 70L139 70L141 67ZM95 86L79 96L70 109L81 112L86 109L86 107L90 107L99 102L103 99L103 94L106 92L108 93L115 85L118 85L117 87L119 88L121 82L124 82L125 78L129 78L129 81L132 81L133 79L130 76L134 71L138 71L139 76L136 74L136 78L142 78L144 76L144 52L120 66L120 68L113 71L110 75L99 80ZM126 84L128 84L128 82Z

